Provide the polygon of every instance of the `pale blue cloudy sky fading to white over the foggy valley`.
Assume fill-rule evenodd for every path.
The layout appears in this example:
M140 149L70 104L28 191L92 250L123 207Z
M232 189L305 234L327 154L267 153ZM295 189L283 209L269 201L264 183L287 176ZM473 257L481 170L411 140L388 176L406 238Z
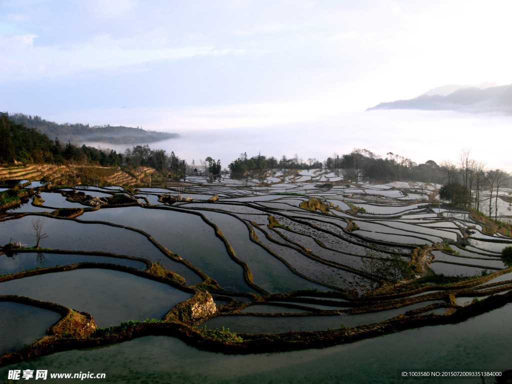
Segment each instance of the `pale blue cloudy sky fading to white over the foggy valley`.
M190 140L211 136L232 145L233 137L258 132L269 141L311 132L343 139L338 131L345 127L350 143L294 147L288 140L276 150L308 152L303 144L309 143L303 157L322 148L329 151L325 159L351 151L355 142L417 162L455 159L463 147L478 153L481 142L450 142L453 156L446 147L414 151L394 133L383 143L382 122L393 130L392 119L403 127L412 116L369 118L373 112L363 111L445 84L510 84L510 14L507 0L0 0L0 111L142 126ZM472 119L464 115L459 121L417 114L408 134L420 144L418 116L432 126L454 120L461 126ZM475 121L498 133L512 119L487 118ZM218 141L209 148L208 141L198 143L209 151L200 154L183 140L183 153L179 145L174 151L189 162L192 156L233 160ZM248 154L258 150L243 145ZM511 162L488 155L489 164L512 171Z

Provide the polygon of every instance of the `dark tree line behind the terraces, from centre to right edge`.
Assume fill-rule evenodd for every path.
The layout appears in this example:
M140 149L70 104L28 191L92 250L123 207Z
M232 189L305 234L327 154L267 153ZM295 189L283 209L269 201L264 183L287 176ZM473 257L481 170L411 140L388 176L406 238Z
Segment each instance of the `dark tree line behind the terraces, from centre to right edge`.
M440 198L455 205L483 210L489 217L498 219L500 190L510 185L512 177L503 169L490 169L483 161L470 157L469 150L462 150L457 163L443 160L438 165L433 160L417 164L411 159L388 152L386 157L366 149L354 148L351 153L339 156L336 153L320 162L308 159L304 162L296 154L292 158L285 155L278 161L274 157L248 157L247 153L228 165L231 173L243 175L261 174L268 169L329 169L343 173L345 178L356 180L380 179L383 181L418 181L443 184ZM482 194L482 191L487 191ZM512 202L512 198L506 201Z

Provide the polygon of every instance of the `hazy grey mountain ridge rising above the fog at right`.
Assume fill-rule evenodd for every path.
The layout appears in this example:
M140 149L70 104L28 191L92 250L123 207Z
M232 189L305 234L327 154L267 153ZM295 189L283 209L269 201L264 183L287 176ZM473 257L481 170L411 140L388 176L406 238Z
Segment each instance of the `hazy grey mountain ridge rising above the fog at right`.
M434 88L414 99L382 102L367 111L377 109L415 109L424 111L458 111L470 113L504 112L512 114L512 85L449 86ZM491 85L488 87L488 85ZM450 92L451 90L454 90Z

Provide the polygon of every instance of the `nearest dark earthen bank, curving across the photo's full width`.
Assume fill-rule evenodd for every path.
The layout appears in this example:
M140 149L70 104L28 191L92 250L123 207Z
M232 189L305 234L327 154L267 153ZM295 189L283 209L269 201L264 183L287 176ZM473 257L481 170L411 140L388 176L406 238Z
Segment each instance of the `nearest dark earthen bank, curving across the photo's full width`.
M91 338L56 338L48 343L35 343L22 351L0 356L0 367L19 361L44 356L55 352L79 348L93 348L113 343L125 342L143 336L171 336L196 348L226 354L252 354L284 352L311 348L326 348L358 340L396 333L411 328L456 324L468 318L500 308L512 302L512 293L490 296L481 302L460 307L451 315L429 313L406 317L396 316L384 322L352 328L340 328L315 332L286 332L279 334L245 334L236 336L241 341L223 341L202 332L202 330L180 323L134 322L119 333Z

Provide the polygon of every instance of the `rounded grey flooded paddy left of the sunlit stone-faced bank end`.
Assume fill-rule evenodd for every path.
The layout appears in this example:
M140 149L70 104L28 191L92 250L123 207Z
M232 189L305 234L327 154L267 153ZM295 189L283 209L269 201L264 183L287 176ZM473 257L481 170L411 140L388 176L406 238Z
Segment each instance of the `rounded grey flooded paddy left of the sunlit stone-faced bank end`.
M84 290L84 286L88 289ZM17 294L88 312L98 327L162 318L176 304L190 297L189 293L130 273L94 268L3 282L0 294ZM130 297L129 303L126 297Z

